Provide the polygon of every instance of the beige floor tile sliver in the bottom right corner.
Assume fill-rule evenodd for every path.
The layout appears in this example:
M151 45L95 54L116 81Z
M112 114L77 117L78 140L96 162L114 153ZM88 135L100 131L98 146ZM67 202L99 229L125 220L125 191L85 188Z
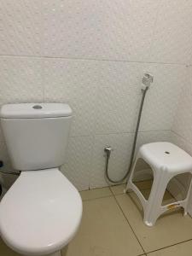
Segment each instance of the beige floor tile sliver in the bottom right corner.
M156 251L154 253L148 253L148 256L191 256L192 255L192 241L185 241L172 247L167 247Z

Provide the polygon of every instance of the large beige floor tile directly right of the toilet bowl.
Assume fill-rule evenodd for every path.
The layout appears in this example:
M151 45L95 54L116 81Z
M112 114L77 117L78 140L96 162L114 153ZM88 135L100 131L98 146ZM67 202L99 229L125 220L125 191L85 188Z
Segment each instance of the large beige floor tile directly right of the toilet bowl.
M78 235L67 256L134 256L142 254L136 237L113 197L84 201Z

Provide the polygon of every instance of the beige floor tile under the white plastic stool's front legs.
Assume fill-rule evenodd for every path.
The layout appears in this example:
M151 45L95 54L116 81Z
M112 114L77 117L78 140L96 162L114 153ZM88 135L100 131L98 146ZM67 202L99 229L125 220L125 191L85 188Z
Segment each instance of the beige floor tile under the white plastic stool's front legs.
M146 252L192 239L192 219L183 217L181 210L166 212L154 227L148 227L143 224L143 210L134 193L116 198Z

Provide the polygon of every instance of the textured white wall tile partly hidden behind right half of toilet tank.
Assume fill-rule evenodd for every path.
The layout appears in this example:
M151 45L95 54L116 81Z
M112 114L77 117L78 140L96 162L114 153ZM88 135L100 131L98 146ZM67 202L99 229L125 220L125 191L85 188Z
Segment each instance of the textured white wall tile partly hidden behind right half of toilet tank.
M93 133L96 111L97 61L44 61L45 102L67 102L73 108L72 136Z

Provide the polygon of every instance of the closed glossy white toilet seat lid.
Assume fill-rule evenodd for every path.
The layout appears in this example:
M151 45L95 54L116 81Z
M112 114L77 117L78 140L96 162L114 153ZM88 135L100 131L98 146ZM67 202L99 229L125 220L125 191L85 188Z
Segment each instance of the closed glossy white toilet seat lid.
M0 203L0 232L16 252L53 253L79 228L82 201L58 169L21 172Z

